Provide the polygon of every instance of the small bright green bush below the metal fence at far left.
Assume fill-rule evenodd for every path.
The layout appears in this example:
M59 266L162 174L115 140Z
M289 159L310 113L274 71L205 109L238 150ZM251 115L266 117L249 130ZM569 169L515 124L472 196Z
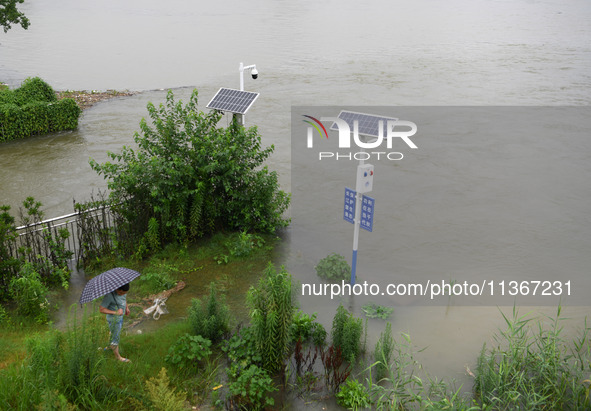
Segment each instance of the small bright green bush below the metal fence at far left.
M10 293L18 312L41 324L49 321L48 291L31 263L25 263L18 275L10 280Z

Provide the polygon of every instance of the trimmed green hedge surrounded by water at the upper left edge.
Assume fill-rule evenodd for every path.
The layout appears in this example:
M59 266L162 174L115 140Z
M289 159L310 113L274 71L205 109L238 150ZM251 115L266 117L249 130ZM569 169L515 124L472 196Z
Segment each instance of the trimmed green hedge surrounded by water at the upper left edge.
M74 100L57 101L46 82L28 78L18 89L0 90L0 142L73 130L81 113Z

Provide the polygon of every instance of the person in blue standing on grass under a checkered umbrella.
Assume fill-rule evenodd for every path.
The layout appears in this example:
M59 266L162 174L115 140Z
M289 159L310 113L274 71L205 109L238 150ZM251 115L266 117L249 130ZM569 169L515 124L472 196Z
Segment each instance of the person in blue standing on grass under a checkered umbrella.
M129 283L139 275L140 273L129 268L113 268L90 279L80 296L81 305L104 296L99 311L107 315L111 331L110 348L115 353L115 358L122 362L130 362L119 354L123 314L129 315L126 294L129 291Z

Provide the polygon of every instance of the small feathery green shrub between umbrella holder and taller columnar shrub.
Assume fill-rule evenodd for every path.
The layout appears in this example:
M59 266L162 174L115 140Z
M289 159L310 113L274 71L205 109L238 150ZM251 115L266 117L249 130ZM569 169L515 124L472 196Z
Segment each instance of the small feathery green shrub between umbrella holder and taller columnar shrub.
M189 324L194 335L201 335L213 343L221 341L230 330L230 310L215 283L209 285L206 302L197 298L191 300Z

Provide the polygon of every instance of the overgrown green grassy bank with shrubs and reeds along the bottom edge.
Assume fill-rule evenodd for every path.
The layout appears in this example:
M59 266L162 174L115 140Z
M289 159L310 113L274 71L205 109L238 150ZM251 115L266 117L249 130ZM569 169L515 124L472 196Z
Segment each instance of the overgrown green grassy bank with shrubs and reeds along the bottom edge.
M380 410L591 409L589 328L585 323L575 337L567 337L560 307L553 317L501 312L505 327L491 330L494 344L474 352L477 368L467 393L467 387L431 376L416 360L410 336L398 335L388 323L373 348L364 341L362 320L342 306L329 332L305 307L290 307L287 283L281 283L289 276L267 266L277 244L273 237L235 233L170 246L145 261L97 260L96 273L113 266L142 272L132 283L131 303L185 281L186 288L169 299L169 317L176 319L148 320L155 327L142 333L138 329L148 321L129 329L121 350L132 362L120 363L98 349L107 344L108 332L96 306L88 305L85 315L73 307L63 330L17 323L14 317L0 337L0 409L270 410L327 404ZM211 297L211 282L218 300ZM247 304L251 286L257 291L248 293ZM231 322L228 332L216 334L226 327L220 316L223 294ZM202 304L196 306L194 297ZM278 309L283 303L285 311ZM195 314L199 309L214 314ZM137 308L126 324L140 312ZM287 341L274 331L282 312L293 314L284 322ZM197 331L195 315L205 320ZM265 330L269 334L257 346L253 342ZM211 341L201 337L206 333ZM281 344L285 354L276 350Z

